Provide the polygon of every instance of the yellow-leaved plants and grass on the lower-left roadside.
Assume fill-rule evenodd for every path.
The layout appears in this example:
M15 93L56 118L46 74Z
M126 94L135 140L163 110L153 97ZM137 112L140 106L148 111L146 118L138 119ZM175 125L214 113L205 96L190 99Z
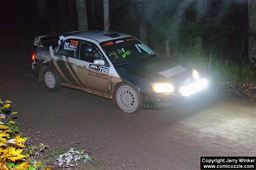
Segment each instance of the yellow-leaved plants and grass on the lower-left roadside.
M0 99L1 170L51 170L78 166L79 169L104 169L101 161L90 157L84 151L69 149L77 142L57 151L48 151L49 146L43 143L31 145L30 138L20 133L17 123L8 121L12 115L17 114L10 112L11 103L9 100L2 102Z

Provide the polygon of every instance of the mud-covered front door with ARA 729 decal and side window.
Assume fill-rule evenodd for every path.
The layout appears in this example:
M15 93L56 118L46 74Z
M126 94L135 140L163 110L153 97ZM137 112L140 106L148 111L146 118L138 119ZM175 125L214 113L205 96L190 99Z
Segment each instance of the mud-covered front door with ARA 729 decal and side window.
M105 65L94 65L93 61L102 59ZM79 60L77 61L77 77L82 85L92 90L94 94L110 95L110 67L97 46L87 41L81 41Z

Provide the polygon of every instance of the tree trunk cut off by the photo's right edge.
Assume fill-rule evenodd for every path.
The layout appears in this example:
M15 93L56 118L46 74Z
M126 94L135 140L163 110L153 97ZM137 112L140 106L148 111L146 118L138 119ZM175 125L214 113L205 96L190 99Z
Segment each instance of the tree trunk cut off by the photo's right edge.
M256 63L256 0L248 0L248 23L248 57Z

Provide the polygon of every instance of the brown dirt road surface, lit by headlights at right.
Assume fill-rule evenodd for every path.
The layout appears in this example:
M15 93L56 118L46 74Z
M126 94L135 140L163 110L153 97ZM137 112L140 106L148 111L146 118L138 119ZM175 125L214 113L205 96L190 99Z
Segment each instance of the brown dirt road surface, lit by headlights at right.
M201 156L255 156L256 106L208 93L170 109L126 114L111 100L38 85L33 47L1 49L0 97L20 129L52 149L72 142L105 169L200 169Z

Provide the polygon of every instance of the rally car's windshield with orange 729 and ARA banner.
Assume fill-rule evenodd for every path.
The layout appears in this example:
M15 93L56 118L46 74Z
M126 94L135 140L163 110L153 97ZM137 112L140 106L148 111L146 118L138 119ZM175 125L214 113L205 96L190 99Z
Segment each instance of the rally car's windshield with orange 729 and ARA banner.
M100 45L115 66L133 63L155 55L155 52L133 37L105 41Z

